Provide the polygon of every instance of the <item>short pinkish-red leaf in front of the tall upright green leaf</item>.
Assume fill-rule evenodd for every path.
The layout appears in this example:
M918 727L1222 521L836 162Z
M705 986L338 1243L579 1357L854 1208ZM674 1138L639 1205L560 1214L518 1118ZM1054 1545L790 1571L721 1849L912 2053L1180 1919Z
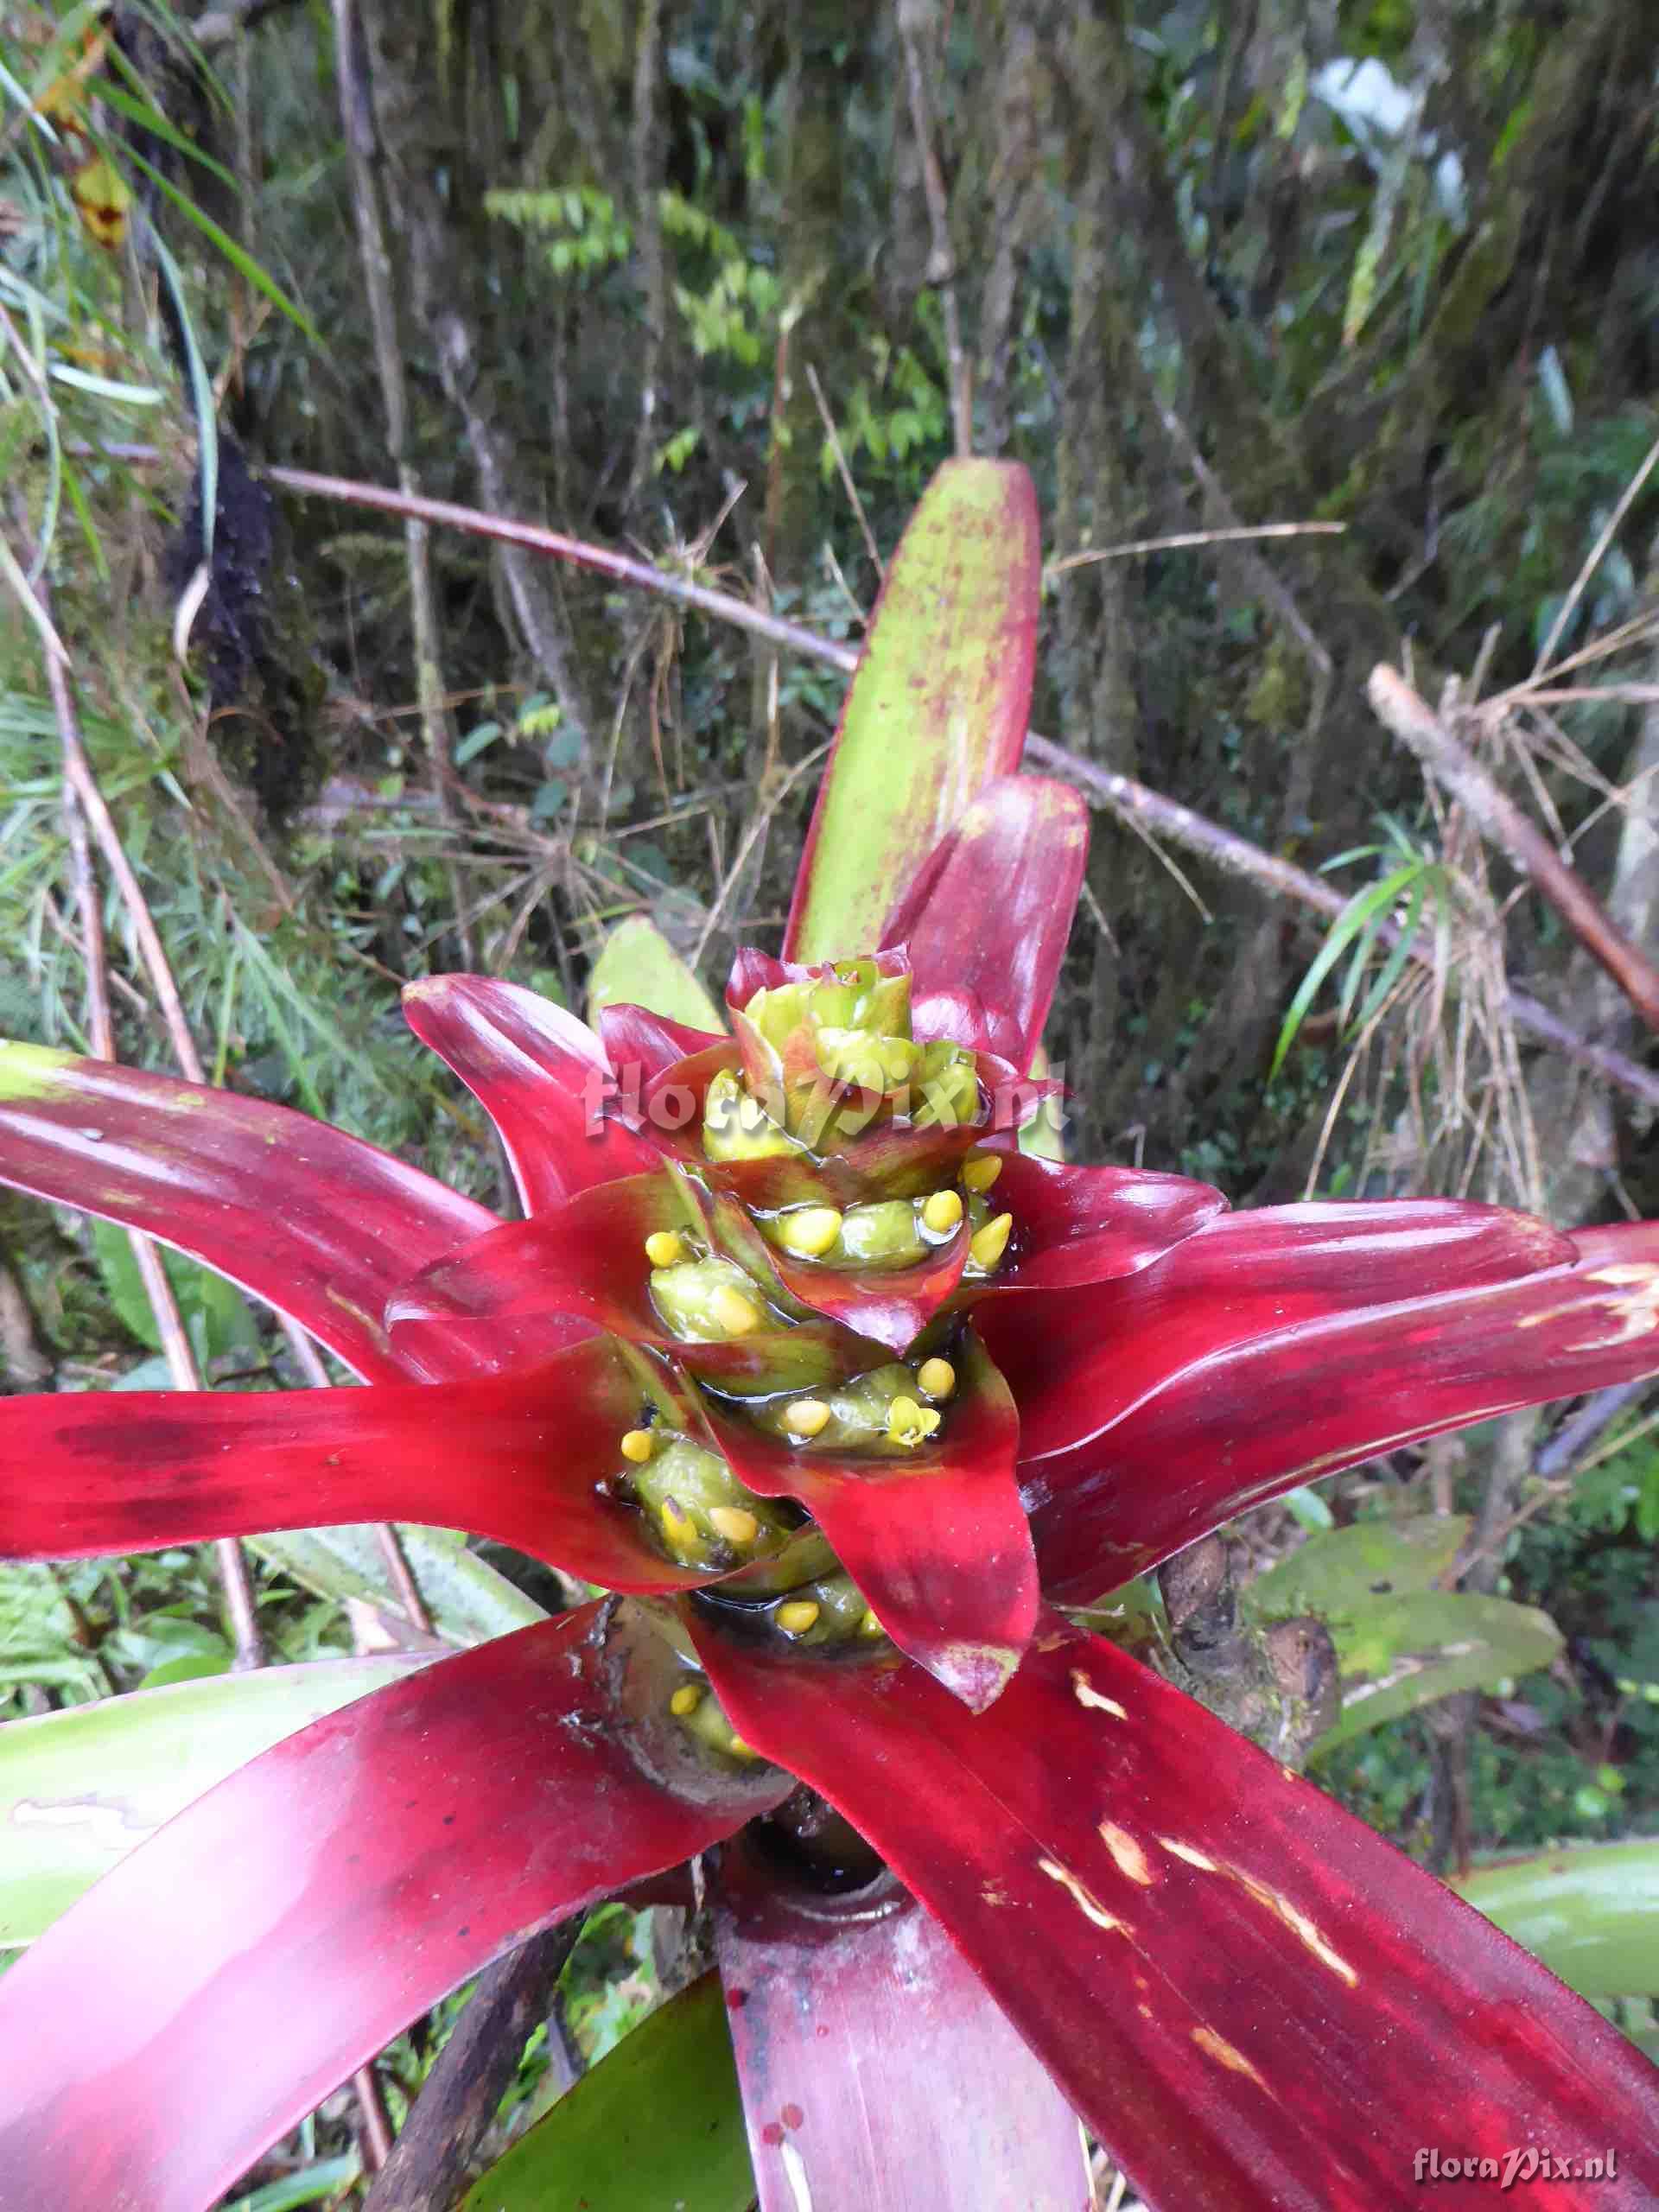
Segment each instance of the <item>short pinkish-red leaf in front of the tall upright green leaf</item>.
M916 975L916 1022L949 1020L933 993L971 993L991 1051L1029 1068L1048 1020L1088 858L1088 807L1071 783L995 776L927 856L880 942ZM945 1031L956 1035L953 1029Z

